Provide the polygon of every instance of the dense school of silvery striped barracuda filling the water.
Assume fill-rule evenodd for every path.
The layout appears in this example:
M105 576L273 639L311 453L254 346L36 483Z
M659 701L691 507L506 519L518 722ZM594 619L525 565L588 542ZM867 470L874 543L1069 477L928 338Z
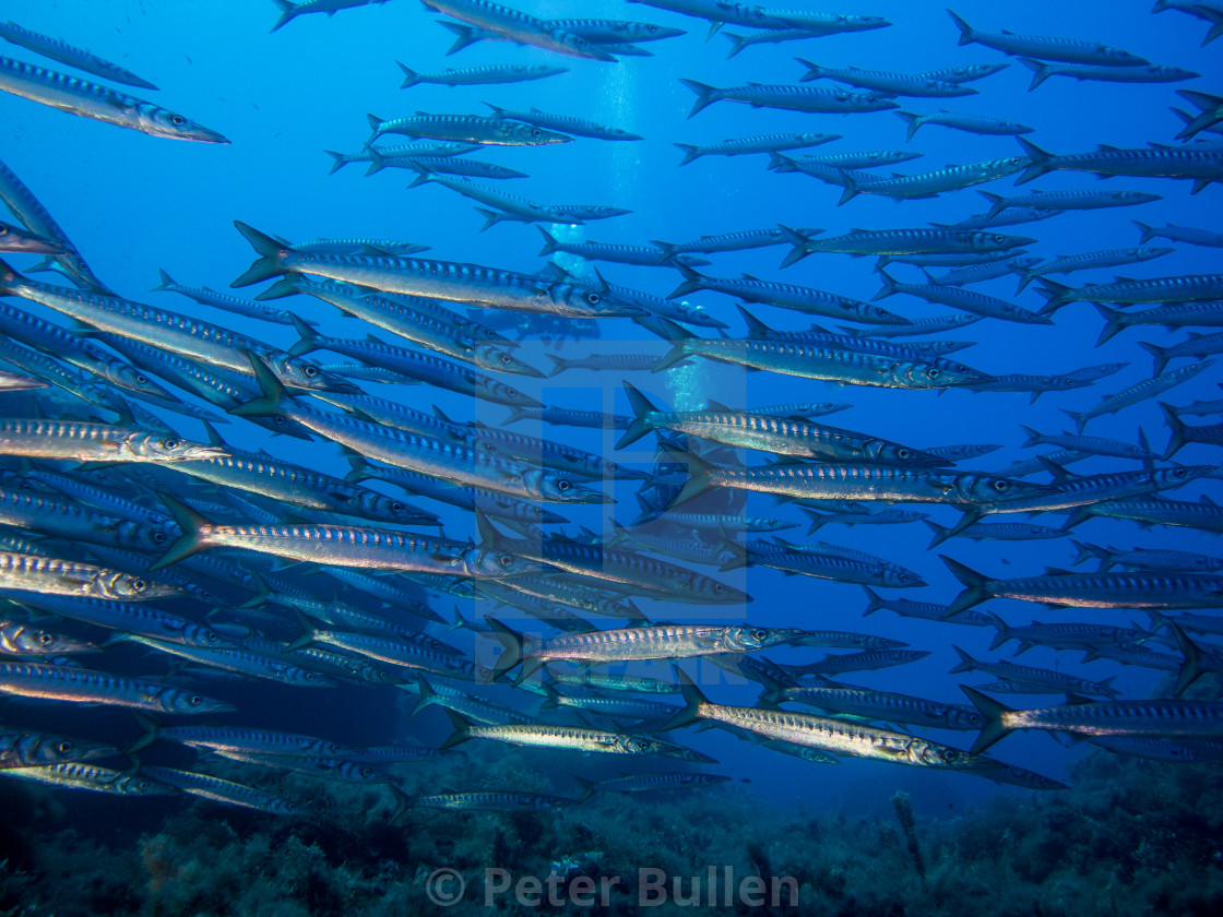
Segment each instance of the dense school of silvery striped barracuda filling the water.
M307 13L367 5L367 0L274 1L279 18L273 31ZM544 21L484 0L423 2L426 13L440 13L440 26L456 37L449 53L501 42L549 54L531 65L438 73L401 62L405 88L538 81L570 67L618 61L631 66L635 55L665 54L665 40L685 33L637 21ZM745 31L729 35L730 56L757 44L892 24L868 15L773 11L730 0L629 2L654 7L667 22L708 26L711 35L722 27ZM1223 6L1217 2L1158 0L1153 12L1166 10L1203 20L1207 42L1223 32ZM939 109L944 99L988 93L989 78L1015 64L1032 71L1031 90L1054 76L1177 83L1199 75L1090 38L1007 31L1004 7L998 7L997 23L969 23L948 12L945 48L938 50L945 51L951 66L893 73L797 59L794 82L788 84L715 87L682 78L695 94L690 117L719 101L855 117L890 112L907 126L910 141L918 128L925 127L918 134L925 136L934 126L998 134L994 159L914 166L910 174L887 176L879 168L921 153L911 147L851 152L852 141L843 137L850 134L854 117L837 121L844 134L759 134L706 147L675 145L682 150L684 168L700 169L708 157L751 157L761 164L768 159L778 172L799 174L794 181L815 179L816 188L830 185L828 215L859 196L904 202L1014 179L1013 190L982 190L986 212L955 225L904 226L901 203L896 218L901 227L826 234L744 226L679 242L567 241L556 224L610 220L629 212L604 204L538 203L501 191L508 180L527 176L468 154L495 153L486 148L498 145L659 138L537 108L418 111L390 120L369 115L372 133L363 147L355 141L355 152L330 153L333 172L351 163L367 163L369 174L405 169L415 174L416 185L433 182L467 197L478 204L486 229L503 221L543 224L537 227L543 256L563 252L594 262L657 265L659 274L675 271L678 286L669 295L667 281L659 290L638 291L618 287L599 274L577 276L559 264L541 270L538 264L432 260L428 246L421 243L363 238L291 243L279 234L292 236L292 226L256 227L235 220L254 260L245 273L232 265L237 279L231 286L274 284L248 300L181 285L161 270L157 290L188 301L186 311L177 312L165 306L169 296L144 304L109 289L88 267L89 253L77 249L39 204L37 190L0 165L0 201L10 212L0 223L5 253L0 359L6 367L0 373L5 392L0 694L9 698L6 724L0 725L0 775L110 794L186 792L292 816L303 812L301 802L257 789L267 783L262 775L292 770L383 785L404 806L494 811L571 805L596 791L708 786L725 778L659 770L598 783L578 776L581 795L577 787L536 795L506 786L408 796L395 770L473 740L550 753L662 756L712 764L709 756L674 741L680 734L673 730L701 720L756 738L762 758L773 751L811 762L874 758L1031 789L1063 785L983 754L1015 730L1069 732L1106 748L1169 760L1223 753L1223 703L1180 698L1201 674L1223 671L1223 646L1210 643L1223 633L1223 617L1195 613L1223 605L1223 558L1073 542L1077 558L1071 565L1098 560L1097 571L1049 567L1003 576L997 567L981 572L940 555L964 589L929 603L877 592L926 586L918 571L832 543L797 543L773 534L805 521L808 537L834 525L923 522L934 534L931 549L950 549L953 539L964 538L1063 539L1095 517L1223 532L1223 507L1208 498L1186 501L1170 495L1194 481L1221 477L1214 465L1170 460L1190 444L1200 447L1195 457L1205 458L1223 445L1223 423L1184 419L1217 417L1223 401L1163 405L1167 430L1150 438L1156 443L1145 434L1130 443L1085 433L1092 418L1164 397L1197 374L1212 372L1211 357L1223 352L1223 334L1194 329L1223 325L1223 273L1117 278L1077 287L1053 279L1085 269L1130 270L1129 265L1173 251L1152 245L1156 241L1217 249L1223 247L1223 234L1136 221L1131 248L1049 259L1027 256L1029 247L1040 243L1038 221L1051 216L1073 220L1076 210L1140 207L1174 187L1167 180L1192 182L1192 192L1206 190L1206 197L1216 193L1208 186L1223 182L1223 98L1174 90L1184 101L1178 109L1183 127L1147 147L1052 152L1033 139L1036 126ZM428 33L422 23L421 34L421 40L437 40L444 32ZM0 57L0 89L6 93L154 137L229 142L185 115L128 94L131 89L147 95L157 87L81 48L12 22L0 24L0 37L21 55ZM956 56L956 37L960 45L972 45L971 59ZM867 35L855 40L868 50ZM87 76L51 68L57 66ZM1042 92L1055 92L1057 83L1068 81L1052 81ZM26 103L5 105L6 117L18 119ZM386 142L391 138L396 143ZM823 144L833 142L837 145L829 149L835 152L824 152ZM1128 176L1142 185L1077 191L1024 187L1054 170ZM1205 204L1201 213L1217 215L1210 208L1217 202ZM718 275L719 253L768 246L788 247L780 268L827 253L877 257L882 289L873 300L872 291L859 291L863 298L857 298L786 282L780 268L774 279ZM45 262L21 260L33 256ZM923 282L899 279L900 270L915 267L927 271ZM157 269L148 265L150 274ZM949 273L933 276L931 269ZM1032 308L972 289L1010 275L1019 284L1016 296L1035 284L1043 306ZM692 293L708 293L708 304L678 302ZM714 298L717 293L745 304L736 314L725 298ZM364 322L368 336L323 334L317 322L301 317L312 311L309 297ZM885 297L896 297L889 298L888 308L876 302ZM910 318L904 303L914 297L947 311ZM1169 346L1141 342L1155 357L1153 373L1119 391L1103 380L1125 363L1062 375L1010 374L1005 367L959 362L958 351L971 344L944 336L976 322L1049 325L1063 309L1081 308L1079 303L1098 309L1104 319L1099 342L1131 325L1189 329L1189 336ZM767 312L778 308L822 324L805 331L774 330ZM283 333L292 331L297 342L283 347L231 331L226 317L232 313L270 323L269 339L283 340ZM585 341L596 323L629 320L663 339L665 353L555 356L553 367L541 368L516 353L517 340L500 333L517 328L527 329L528 336ZM740 320L746 336L729 330ZM823 326L830 323L838 330ZM1092 341L1082 344L1087 348ZM346 362L320 363L306 356L318 351ZM1169 368L1181 359L1190 362ZM844 400L735 406L708 401L702 410L679 411L642 391L651 373L692 361L843 384ZM530 394L530 380L572 368L632 375L623 383L632 414L555 408ZM411 392L412 405L428 403L428 390L437 388L501 406L497 410L510 412L508 425L457 422L440 411L410 406L405 395L384 399L367 392L384 383L416 385L393 389ZM1044 392L1091 386L1104 394L1092 407L1066 411L1074 432L1016 424L1027 446L1059 451L981 471L982 456L998 446L917 447L870 430L829 425L827 414L850 407L849 386L960 388L986 392L982 397L1020 391L1031 392L1033 401ZM49 395L53 390L59 391ZM893 397L903 410L905 392ZM1085 402L1075 403L1082 408ZM150 406L203 421L208 441L185 439ZM656 434L658 460L653 468L631 468L570 447L559 434L515 433L512 422L523 418L558 430L614 428L618 449ZM258 424L278 439L268 440L267 451L246 451L226 443L214 423ZM329 474L295 463L295 439L335 444L351 473ZM1086 474L1068 470L1096 457L1136 466ZM1042 474L1051 479L1033 479ZM640 488L638 518L613 522L609 538L561 527L567 522L566 506L610 503L607 485L614 482ZM736 492L779 498L780 515L748 515L741 499L734 500ZM936 522L909 504L949 507L951 515ZM443 523L453 526L456 511L470 514L477 539L444 534ZM994 516L1000 518L988 518ZM1020 521L1035 516L1041 518ZM421 533L422 528L430 531ZM969 704L934 702L838 680L928 655L899 641L822 630L816 617L810 630L768 626L769 609L756 606L752 616L764 624L704 624L698 611L696 621L685 613L682 624L667 622L679 613L653 604L746 608L751 597L718 578L719 572L742 566L861 586L870 599L867 615L887 609L943 621L948 630L994 627L994 648L1019 641L1016 654L1033 646L1052 647L1173 672L1175 696L1121 699L1112 679L1091 681L1010 660L977 660L956 648L961 661L953 671L980 671L998 681L980 690L965 687ZM440 611L450 605L450 595L487 600L472 620L456 613L450 630L481 635L476 646L492 661L448 643L448 621ZM1058 609L1059 616L1022 626L1007 622L976 609L992 598L1036 603ZM1063 619L1062 610L1079 608L1142 610L1151 624L1145 628L1121 617L1109 626ZM532 630L545 627L548 636L511 627L498 609L534 619L538 625ZM767 654L774 647L850 652L781 665ZM135 657L142 660L141 672L114 665L116 653L143 653ZM698 658L758 682L759 701L751 707L714 703L678 665L674 681L608 670L618 663ZM312 696L341 686L399 688L419 698L417 710L445 708L454 734L437 748L406 742L356 748L278 730L275 723L254 721L243 713L243 692L257 688L259 680ZM504 687L497 685L490 692L492 682ZM516 691L509 691L511 685ZM1068 699L1011 709L982 691ZM682 698L682 705L673 703L673 694ZM113 742L44 732L38 714L46 704L130 708L141 732ZM812 712L796 712L795 705ZM198 725L205 714L209 723L223 718L224 725ZM963 749L910 732L910 726L978 737ZM1144 741L1126 743L1134 738ZM199 769L143 763L138 756L158 742L197 749ZM253 785L210 775L204 756L212 754L248 765Z

